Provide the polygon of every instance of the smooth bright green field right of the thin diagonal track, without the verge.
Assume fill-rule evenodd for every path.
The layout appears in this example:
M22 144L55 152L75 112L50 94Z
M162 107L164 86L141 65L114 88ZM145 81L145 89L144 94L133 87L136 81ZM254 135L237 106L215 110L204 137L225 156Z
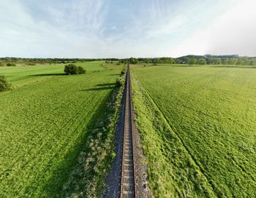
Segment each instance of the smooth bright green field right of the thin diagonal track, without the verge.
M217 197L255 197L256 69L155 66L134 71Z

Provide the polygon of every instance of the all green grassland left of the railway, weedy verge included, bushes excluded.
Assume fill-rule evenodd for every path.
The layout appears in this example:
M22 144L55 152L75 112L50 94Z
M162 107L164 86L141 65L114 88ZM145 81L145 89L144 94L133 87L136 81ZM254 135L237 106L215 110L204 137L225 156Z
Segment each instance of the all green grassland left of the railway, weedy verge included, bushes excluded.
M13 86L0 93L0 197L86 196L104 173L122 66L81 64L88 72L74 76L64 65L0 68Z

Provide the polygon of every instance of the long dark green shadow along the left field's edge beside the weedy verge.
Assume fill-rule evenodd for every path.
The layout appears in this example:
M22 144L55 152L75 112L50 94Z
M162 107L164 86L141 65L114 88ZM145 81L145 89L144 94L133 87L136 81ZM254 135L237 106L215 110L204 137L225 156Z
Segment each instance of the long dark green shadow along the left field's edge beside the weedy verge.
M42 188L42 193L46 195L46 197L71 197L73 193L81 191L81 189L84 188L85 181L88 182L89 178L92 178L97 174L95 173L93 162L89 170L84 170L83 163L78 162L78 156L80 152L91 152L91 148L88 143L90 140L89 137L97 138L97 132L93 131L99 127L99 123L103 123L104 126L108 124L105 123L107 122L106 114L109 112L106 104L110 100L114 91L115 90L109 92L108 95L105 96L102 103L100 103L99 108L97 108L89 121L86 121L86 116L84 117L84 122L88 123L87 126L83 126L83 132L80 132L81 135L77 138L77 142L69 149L69 152L63 158L62 162L56 166L56 170L53 173L50 173L50 178L45 182L45 186ZM104 122L102 122L102 120ZM103 137L107 138L107 135L103 135ZM102 142L104 141L105 138L102 139ZM71 183L66 186L67 181L74 170L77 170L75 173L78 173L78 175L75 177L74 181L72 180ZM74 186L76 186L76 188ZM89 191L89 189L86 191Z

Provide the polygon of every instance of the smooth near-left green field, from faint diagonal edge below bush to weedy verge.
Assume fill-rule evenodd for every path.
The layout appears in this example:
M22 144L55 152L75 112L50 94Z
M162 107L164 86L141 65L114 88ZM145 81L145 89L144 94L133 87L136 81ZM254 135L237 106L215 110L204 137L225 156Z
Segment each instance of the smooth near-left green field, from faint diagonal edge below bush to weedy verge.
M56 76L0 93L0 197L60 196L72 154L98 108L107 109L120 71Z

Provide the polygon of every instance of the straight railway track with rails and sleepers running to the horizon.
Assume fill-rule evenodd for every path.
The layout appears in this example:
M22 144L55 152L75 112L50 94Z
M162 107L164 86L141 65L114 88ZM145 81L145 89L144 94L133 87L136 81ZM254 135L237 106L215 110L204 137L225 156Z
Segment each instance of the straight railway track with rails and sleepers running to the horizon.
M132 90L131 80L129 76L129 66L127 68L125 90L125 113L124 113L124 133L123 133L123 151L121 162L121 198L135 198L135 151L133 141L133 127L132 127Z

